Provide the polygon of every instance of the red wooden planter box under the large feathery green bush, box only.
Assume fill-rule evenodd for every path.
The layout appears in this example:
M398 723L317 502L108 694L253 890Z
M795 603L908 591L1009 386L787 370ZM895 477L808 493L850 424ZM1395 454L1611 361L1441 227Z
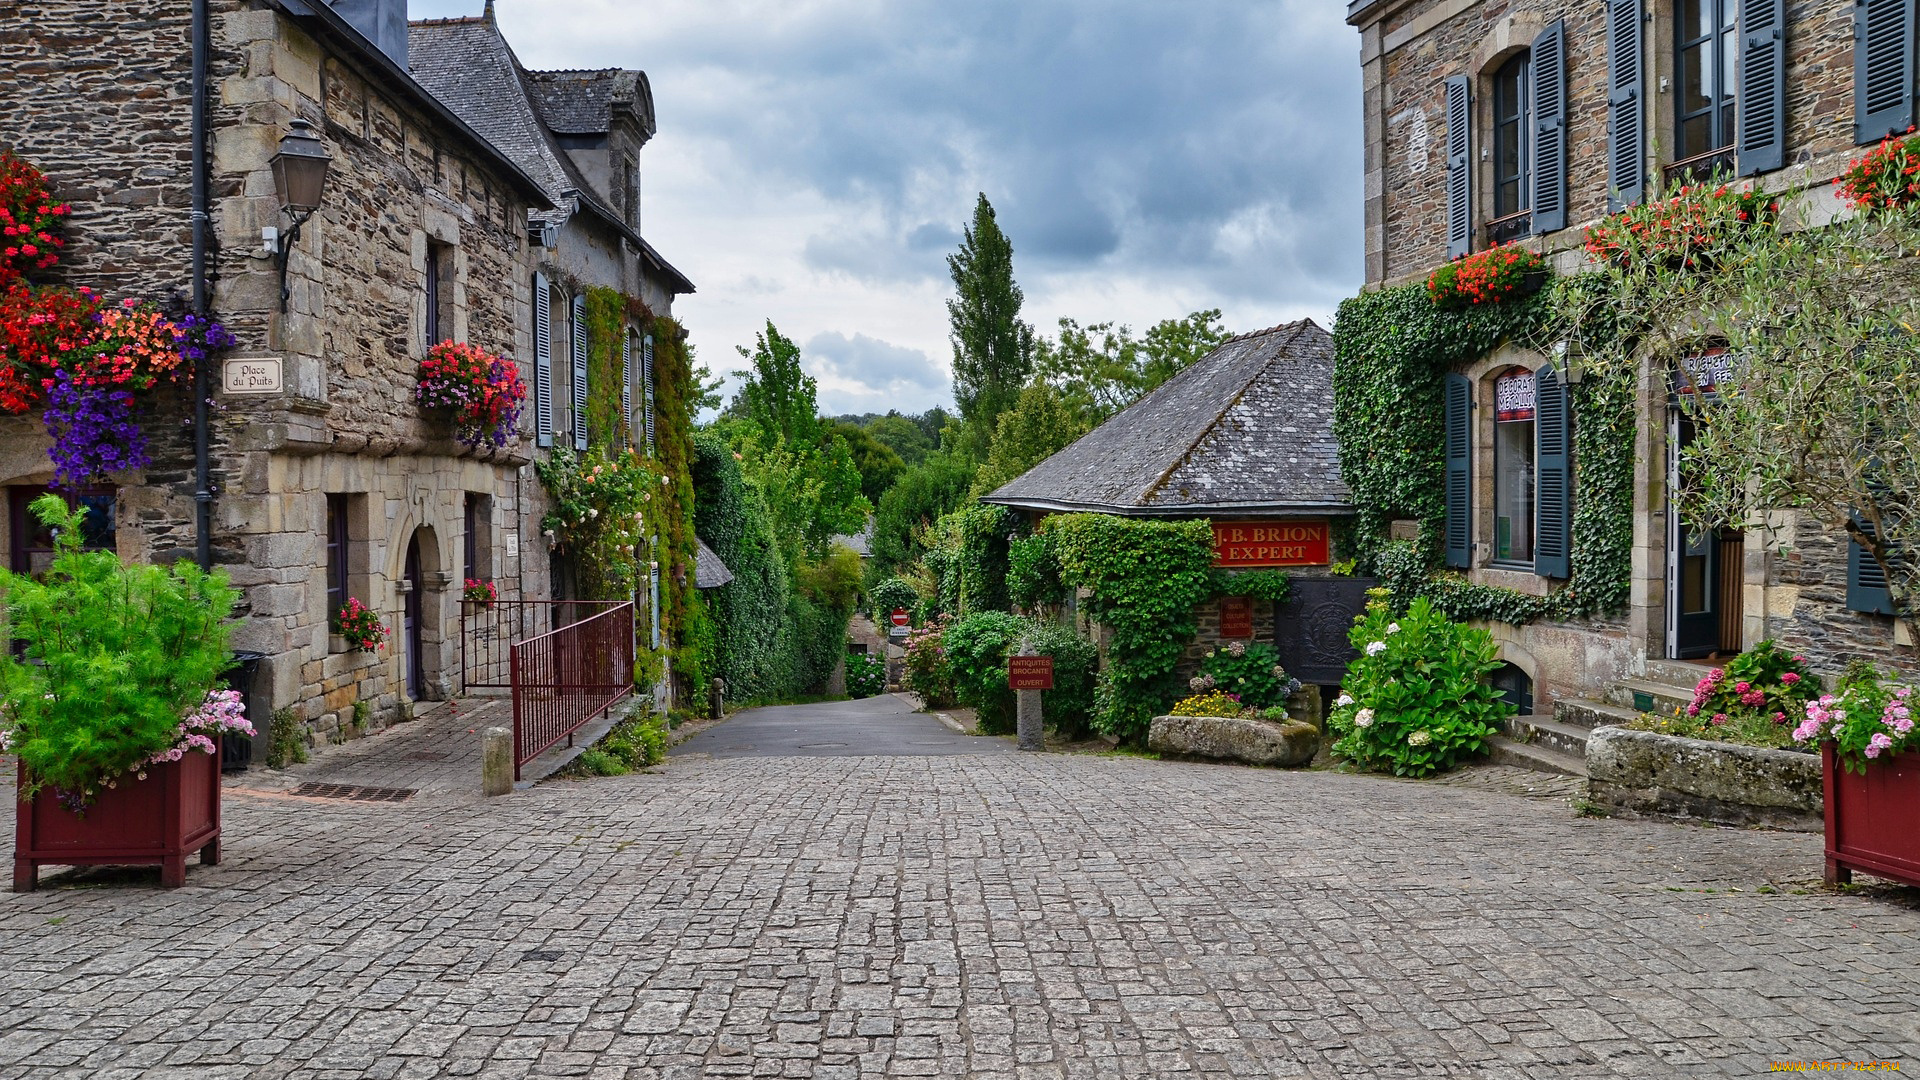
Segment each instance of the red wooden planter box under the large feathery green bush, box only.
M100 863L159 863L161 888L180 888L188 855L200 851L205 867L221 861L221 755L192 751L154 765L146 780L102 790L84 817L50 790L15 813L13 892L33 892L40 867Z

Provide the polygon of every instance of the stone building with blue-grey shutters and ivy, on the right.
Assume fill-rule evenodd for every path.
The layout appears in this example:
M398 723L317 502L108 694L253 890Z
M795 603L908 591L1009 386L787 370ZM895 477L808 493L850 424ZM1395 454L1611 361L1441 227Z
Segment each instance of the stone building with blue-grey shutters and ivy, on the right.
M1868 33L1868 8L1895 17ZM1580 273L1586 227L1657 183L1715 173L1770 192L1809 188L1795 209L1832 213L1832 181L1859 146L1914 121L1912 12L1905 6L1901 23L1901 8L1352 0L1367 288L1423 281L1494 244L1524 244L1559 273ZM1870 50L1907 61L1862 94ZM1567 419L1555 415L1563 375L1553 357L1500 346L1448 380L1457 444L1448 454L1465 467L1450 486L1446 548L1471 582L1546 596L1569 577L1580 461L1551 457L1544 438L1567 434L1555 427ZM1672 371L1640 373L1630 605L1615 617L1492 625L1517 669L1511 692L1536 711L1607 690L1624 701L1619 680L1655 673L1680 684L1690 673L1676 661L1763 638L1822 669L1862 653L1887 659L1905 644L1872 565L1862 577L1839 532L1803 519L1688 536L1668 502L1690 430L1674 386ZM1567 502L1548 505L1553 480L1567 482Z

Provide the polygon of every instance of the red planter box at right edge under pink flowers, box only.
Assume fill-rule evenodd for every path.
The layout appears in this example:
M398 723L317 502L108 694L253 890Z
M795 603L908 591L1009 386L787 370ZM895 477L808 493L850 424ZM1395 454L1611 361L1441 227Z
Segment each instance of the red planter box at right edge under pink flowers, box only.
M1920 886L1920 753L1897 753L1847 773L1834 744L1826 759L1826 880L1847 884L1860 871Z

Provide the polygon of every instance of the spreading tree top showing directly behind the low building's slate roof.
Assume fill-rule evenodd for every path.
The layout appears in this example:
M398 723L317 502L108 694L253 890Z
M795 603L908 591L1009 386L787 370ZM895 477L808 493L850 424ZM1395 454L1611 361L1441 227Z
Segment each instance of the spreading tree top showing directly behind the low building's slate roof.
M1092 427L1213 352L1231 334L1219 309L1162 319L1144 338L1131 327L1060 319L1060 338L1041 338L1035 371L1060 388L1068 407Z

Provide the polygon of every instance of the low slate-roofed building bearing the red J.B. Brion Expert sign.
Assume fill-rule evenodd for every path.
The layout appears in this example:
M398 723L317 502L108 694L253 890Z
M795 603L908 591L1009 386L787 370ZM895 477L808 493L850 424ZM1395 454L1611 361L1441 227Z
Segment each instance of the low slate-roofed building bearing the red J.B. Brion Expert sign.
M1336 686L1365 586L1332 573L1352 517L1332 438L1332 336L1311 319L1240 334L981 502L1048 513L1208 519L1213 561L1286 569L1284 603L1223 596L1194 613L1181 675L1221 642L1279 648L1302 682ZM1317 701L1296 715L1317 717Z

